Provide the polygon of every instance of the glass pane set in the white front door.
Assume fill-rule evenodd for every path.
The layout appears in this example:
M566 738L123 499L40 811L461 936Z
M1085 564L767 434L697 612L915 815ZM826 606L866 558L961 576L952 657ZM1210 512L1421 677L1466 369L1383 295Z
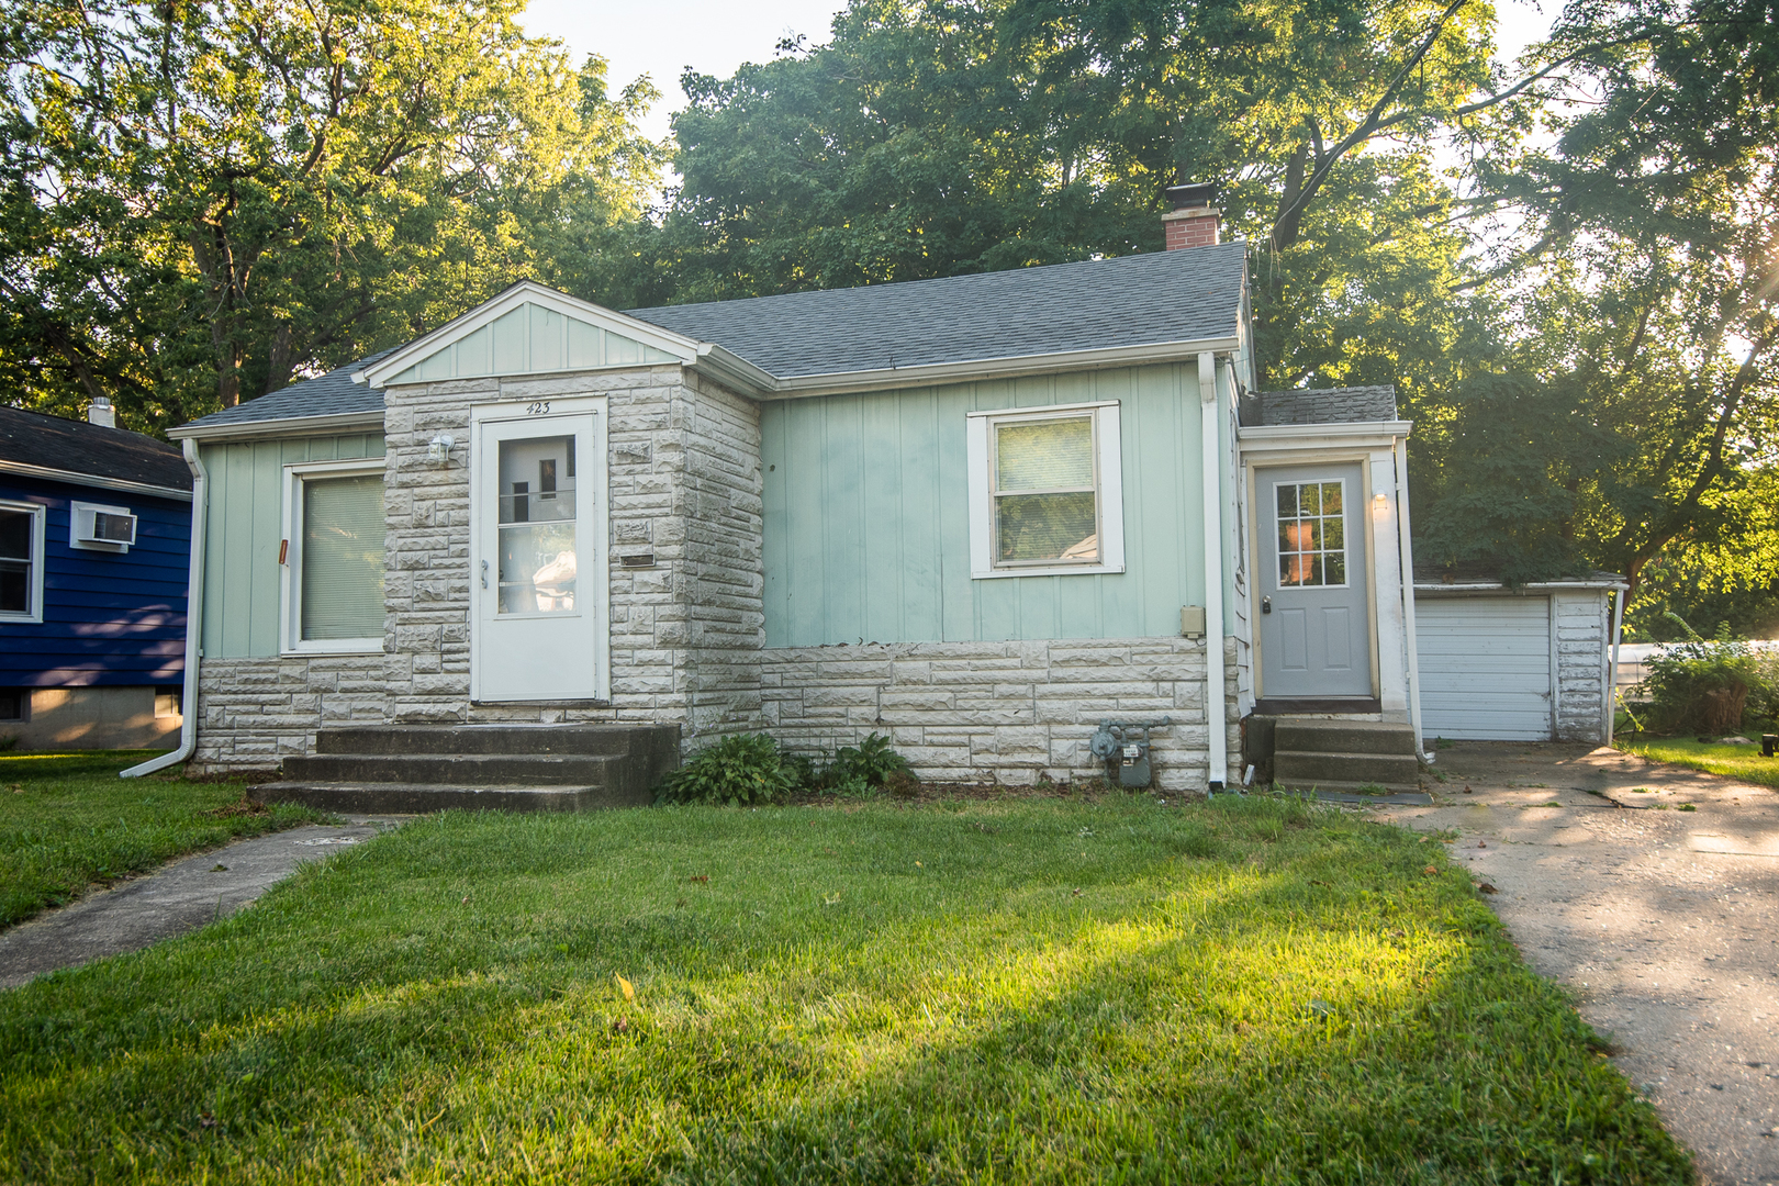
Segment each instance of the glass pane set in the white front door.
M573 613L575 437L500 443L500 613Z

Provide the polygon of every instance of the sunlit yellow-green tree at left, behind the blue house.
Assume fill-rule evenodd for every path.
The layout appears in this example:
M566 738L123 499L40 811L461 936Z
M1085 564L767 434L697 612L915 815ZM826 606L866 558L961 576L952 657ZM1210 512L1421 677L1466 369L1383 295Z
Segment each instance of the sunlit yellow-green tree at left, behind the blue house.
M0 375L160 429L393 345L640 210L658 149L519 0L23 0ZM14 397L18 398L18 397Z

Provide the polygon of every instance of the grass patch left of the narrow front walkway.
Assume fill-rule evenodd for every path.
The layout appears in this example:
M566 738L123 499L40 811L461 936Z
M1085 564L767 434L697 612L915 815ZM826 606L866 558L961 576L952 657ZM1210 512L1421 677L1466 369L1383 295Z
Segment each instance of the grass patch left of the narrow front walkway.
M0 926L173 857L326 818L295 805L217 814L246 782L117 777L157 752L0 754Z

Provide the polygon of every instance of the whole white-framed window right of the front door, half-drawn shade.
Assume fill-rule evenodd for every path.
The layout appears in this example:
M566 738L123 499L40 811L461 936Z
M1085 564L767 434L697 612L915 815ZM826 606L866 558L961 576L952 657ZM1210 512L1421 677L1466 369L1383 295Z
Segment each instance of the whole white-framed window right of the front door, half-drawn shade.
M975 578L1124 571L1119 405L971 413Z

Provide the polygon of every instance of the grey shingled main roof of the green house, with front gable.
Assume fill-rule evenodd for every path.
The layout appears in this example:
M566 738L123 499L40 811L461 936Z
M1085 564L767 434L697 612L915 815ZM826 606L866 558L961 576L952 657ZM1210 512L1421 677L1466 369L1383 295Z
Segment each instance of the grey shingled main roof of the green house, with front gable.
M557 325L568 318L600 327L601 343L616 336L640 347L637 356L605 365L646 366L665 357L713 372L745 395L776 398L1235 349L1244 338L1245 299L1244 244L624 313L519 281L407 345L203 416L169 436L246 437L265 434L272 421L279 432L375 425L382 414L375 384L432 379L423 363L447 352L454 357L466 343L482 350L482 338L487 350L498 350L495 324L511 322L516 333L521 311L525 334L544 338L516 347L514 357L523 357L518 370L489 363L475 373L548 370L537 359L557 357L557 349L571 370L610 359L576 357L573 327ZM539 318L527 304L550 317ZM560 347L553 345L557 333ZM539 354L544 340L550 345ZM480 357L473 366L482 366ZM461 366L461 359L450 363L454 373Z

